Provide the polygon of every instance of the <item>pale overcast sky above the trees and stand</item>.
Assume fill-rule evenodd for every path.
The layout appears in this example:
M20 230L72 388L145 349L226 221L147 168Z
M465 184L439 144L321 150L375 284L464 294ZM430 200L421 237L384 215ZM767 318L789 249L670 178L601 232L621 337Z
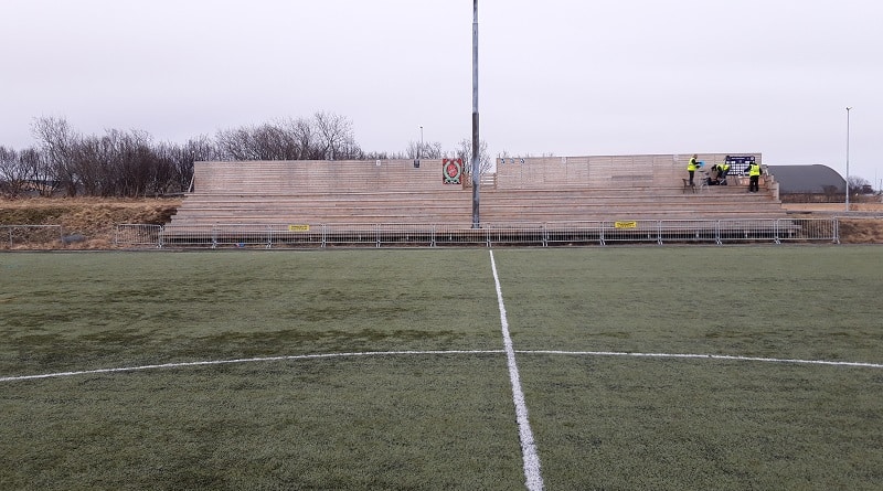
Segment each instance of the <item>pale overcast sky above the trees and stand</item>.
M496 157L762 152L883 179L879 0L479 0ZM368 151L471 136L472 2L0 0L0 145L34 118L183 143L334 113Z

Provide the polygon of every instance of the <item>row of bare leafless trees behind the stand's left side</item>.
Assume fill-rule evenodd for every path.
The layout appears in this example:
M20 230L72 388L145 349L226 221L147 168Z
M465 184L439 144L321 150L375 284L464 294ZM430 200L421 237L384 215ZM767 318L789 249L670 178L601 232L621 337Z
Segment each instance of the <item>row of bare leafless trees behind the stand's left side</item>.
M256 126L220 130L184 143L156 142L138 130L82 135L64 118L35 118L36 145L23 150L0 146L0 194L43 196L138 198L187 192L194 161L215 160L376 160L471 159L465 139L445 152L438 142L408 142L403 152L365 152L355 141L352 122L316 113ZM490 167L481 142L482 171Z

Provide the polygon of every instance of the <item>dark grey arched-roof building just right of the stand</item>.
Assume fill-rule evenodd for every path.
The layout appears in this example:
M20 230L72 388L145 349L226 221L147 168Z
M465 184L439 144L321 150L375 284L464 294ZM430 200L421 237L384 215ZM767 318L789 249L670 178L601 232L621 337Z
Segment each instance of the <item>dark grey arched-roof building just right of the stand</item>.
M767 166L767 172L778 183L783 202L843 201L847 181L828 166Z

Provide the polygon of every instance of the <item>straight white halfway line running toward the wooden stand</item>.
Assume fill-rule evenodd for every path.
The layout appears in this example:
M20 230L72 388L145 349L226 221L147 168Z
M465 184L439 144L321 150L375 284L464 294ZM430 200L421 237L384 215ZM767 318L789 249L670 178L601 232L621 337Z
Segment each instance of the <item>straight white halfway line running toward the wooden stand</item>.
M512 348L512 337L509 335L509 320L506 317L503 291L500 288L500 277L497 275L497 261L493 260L493 250L490 250L490 265L493 269L493 282L497 286L497 303L500 307L500 323L502 324L506 360L509 364L509 380L512 382L512 402L515 405L519 437L521 438L521 455L524 460L524 484L531 491L543 489L543 476L540 472L540 456L536 455L536 445L533 441L533 431L528 420L528 405L521 389L521 377L515 364L515 350Z

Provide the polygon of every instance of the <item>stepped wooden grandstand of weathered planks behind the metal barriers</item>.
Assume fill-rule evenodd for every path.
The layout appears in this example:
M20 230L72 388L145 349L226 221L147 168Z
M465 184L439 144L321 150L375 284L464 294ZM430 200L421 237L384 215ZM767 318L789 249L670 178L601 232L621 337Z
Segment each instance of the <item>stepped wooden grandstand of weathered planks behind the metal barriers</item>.
M758 162L759 153L753 156ZM728 185L702 185L727 154L498 159L481 177L481 225L583 221L784 218L775 179L759 193L732 169ZM196 162L194 188L169 226L217 224L471 224L468 174L446 179L443 160ZM457 175L460 178L460 175Z

